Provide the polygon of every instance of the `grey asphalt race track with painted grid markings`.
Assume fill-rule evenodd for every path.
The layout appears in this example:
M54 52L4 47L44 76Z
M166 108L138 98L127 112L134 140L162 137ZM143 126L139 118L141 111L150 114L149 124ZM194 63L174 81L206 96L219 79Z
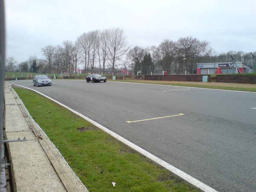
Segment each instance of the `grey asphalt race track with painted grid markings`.
M256 93L112 81L15 84L67 105L215 190L256 191Z

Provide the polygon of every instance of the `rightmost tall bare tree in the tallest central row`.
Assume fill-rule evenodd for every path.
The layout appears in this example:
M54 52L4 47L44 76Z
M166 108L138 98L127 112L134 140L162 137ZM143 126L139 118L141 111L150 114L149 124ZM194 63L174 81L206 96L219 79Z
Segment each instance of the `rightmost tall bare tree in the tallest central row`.
M127 47L127 38L123 29L108 29L108 58L112 64L112 73L114 73L115 62L124 55L129 47Z

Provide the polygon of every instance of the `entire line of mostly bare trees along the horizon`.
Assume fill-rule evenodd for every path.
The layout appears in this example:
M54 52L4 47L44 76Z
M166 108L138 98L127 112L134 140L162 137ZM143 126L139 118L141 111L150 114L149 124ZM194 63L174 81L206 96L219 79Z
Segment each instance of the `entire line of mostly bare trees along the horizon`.
M61 45L47 45L41 48L41 52L44 58L29 56L27 61L20 64L12 56L7 58L6 70L34 73L65 70L67 73L76 73L78 66L82 66L85 73L98 67L104 74L106 67L114 73L114 68L121 66L135 75L149 75L154 70L183 74L185 68L188 73L194 74L197 63L213 63L214 60L232 62L230 55L233 55L236 62L244 62L250 66L255 62L250 52L229 51L217 54L212 50L209 41L200 41L191 36L179 38L177 41L165 39L158 46L131 48L124 30L119 28L85 32L75 42L64 41Z

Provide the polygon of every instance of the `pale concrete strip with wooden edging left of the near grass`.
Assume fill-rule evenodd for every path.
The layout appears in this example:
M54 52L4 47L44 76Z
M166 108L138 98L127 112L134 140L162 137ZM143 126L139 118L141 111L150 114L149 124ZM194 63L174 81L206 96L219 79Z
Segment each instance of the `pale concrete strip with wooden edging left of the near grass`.
M14 191L87 192L7 82L4 82L4 99L5 139L27 140L7 143Z

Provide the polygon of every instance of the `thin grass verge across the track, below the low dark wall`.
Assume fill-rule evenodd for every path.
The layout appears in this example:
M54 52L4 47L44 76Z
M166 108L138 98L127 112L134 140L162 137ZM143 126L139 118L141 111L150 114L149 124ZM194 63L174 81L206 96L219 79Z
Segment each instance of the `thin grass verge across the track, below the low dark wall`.
M221 90L237 90L237 91L249 91L249 92L256 92L256 88L251 87L236 87L232 84L229 86L219 86L213 84L193 84L189 83L182 83L182 82L162 82L162 81L137 81L137 80L108 80L108 81L120 81L120 82L131 82L131 83L145 83L145 84L163 84L163 85L173 85L173 86L182 86L182 87L198 87L198 88L208 88L208 89L221 89Z

